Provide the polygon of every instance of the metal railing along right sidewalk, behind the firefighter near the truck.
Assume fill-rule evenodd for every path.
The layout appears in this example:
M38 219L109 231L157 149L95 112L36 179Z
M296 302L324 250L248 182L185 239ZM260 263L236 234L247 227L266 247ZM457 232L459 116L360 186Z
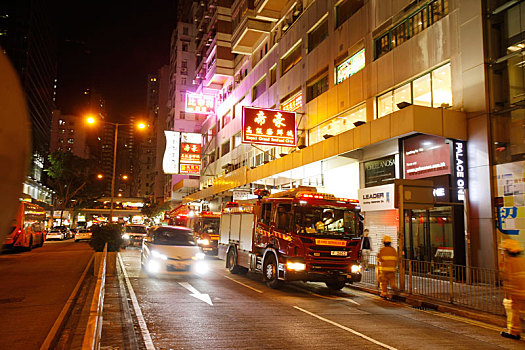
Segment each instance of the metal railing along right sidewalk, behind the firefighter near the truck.
M399 284L399 271L396 272L399 291L492 314L505 314L504 293L497 270L433 261L403 260L402 263L403 286ZM376 256L370 256L368 264L364 261L362 264L360 283L378 286Z

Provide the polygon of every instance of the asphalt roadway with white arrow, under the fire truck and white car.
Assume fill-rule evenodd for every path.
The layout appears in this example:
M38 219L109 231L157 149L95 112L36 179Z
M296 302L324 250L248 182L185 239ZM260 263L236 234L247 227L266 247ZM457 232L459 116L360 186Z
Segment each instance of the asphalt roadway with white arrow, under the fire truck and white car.
M140 269L139 250L120 255L149 349L525 349L497 327L351 288L295 282L273 290L259 275L230 274L218 259L208 259L203 277L152 278Z

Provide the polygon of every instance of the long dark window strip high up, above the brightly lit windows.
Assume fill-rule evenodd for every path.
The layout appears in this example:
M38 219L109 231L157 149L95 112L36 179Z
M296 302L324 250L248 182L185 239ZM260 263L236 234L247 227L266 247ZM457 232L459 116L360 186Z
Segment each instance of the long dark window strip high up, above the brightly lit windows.
M433 0L374 39L377 59L448 15L448 0Z

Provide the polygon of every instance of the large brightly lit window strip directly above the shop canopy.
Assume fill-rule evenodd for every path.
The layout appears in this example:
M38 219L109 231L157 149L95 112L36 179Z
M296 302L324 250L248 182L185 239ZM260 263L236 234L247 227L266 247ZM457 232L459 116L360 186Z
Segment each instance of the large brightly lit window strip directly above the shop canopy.
M378 96L377 117L399 110L397 104L401 102L434 108L452 106L450 63Z

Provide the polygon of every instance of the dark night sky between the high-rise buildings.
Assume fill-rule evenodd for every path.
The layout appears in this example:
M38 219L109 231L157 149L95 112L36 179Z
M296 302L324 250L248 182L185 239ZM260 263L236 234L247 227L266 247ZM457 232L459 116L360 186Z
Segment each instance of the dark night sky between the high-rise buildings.
M169 63L177 0L61 0L57 105L85 113L82 91L106 99L108 117L144 115L146 80Z

